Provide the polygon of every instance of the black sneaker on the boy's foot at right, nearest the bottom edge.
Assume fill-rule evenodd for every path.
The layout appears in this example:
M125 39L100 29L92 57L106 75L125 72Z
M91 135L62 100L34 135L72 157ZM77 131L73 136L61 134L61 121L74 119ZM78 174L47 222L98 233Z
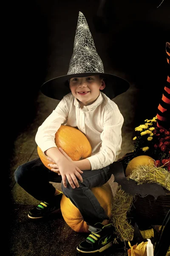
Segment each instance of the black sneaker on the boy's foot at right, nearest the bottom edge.
M112 224L103 225L96 223L94 226L89 226L91 234L85 241L82 241L78 246L77 250L81 253L96 253L102 252L113 245L114 227Z

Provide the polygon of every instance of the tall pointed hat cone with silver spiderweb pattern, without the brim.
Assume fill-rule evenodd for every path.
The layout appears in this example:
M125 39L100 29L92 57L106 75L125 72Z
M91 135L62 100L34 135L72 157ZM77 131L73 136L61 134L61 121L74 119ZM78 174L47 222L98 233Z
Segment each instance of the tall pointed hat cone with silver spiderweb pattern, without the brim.
M77 73L104 73L102 60L96 52L88 23L82 12L79 12L68 75Z

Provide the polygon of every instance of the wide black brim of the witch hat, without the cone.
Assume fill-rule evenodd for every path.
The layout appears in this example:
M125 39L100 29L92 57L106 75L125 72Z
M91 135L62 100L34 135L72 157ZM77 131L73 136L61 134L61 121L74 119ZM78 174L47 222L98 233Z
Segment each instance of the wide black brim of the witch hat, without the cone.
M108 73L77 73L66 76L59 76L46 81L41 86L41 92L52 99L61 100L66 94L70 93L68 79L72 77L86 77L101 75L105 79L106 87L102 90L110 99L115 98L119 94L125 93L130 84L125 79Z

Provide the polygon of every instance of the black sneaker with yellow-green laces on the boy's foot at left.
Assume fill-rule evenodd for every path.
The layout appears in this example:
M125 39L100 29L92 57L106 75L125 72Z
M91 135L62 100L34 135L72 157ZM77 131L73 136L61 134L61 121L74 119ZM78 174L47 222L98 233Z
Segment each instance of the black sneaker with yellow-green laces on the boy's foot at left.
M41 202L37 207L34 207L30 210L28 213L28 218L31 219L38 219L38 218L44 218L50 215L51 213L57 213L60 212L60 201L62 198L63 193L60 191L59 194L55 195L55 204L51 205L47 202Z

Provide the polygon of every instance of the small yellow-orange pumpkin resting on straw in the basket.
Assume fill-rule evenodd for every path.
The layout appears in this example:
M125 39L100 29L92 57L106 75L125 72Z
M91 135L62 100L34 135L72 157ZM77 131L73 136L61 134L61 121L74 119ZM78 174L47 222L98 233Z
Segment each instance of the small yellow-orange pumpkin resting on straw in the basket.
M128 177L130 173L136 168L136 166L139 165L153 165L155 166L155 160L152 157L141 155L138 157L134 157L130 163L128 163L126 170L125 170L125 175Z

